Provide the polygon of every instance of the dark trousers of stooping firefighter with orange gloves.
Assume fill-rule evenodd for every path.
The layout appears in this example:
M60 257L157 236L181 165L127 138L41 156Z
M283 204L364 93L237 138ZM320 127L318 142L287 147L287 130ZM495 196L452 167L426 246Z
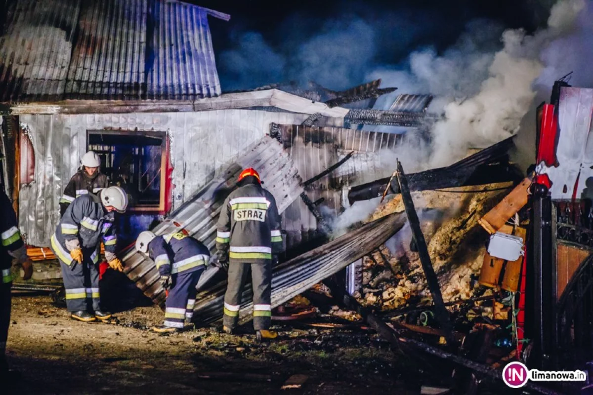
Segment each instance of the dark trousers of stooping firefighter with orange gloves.
M66 288L66 307L68 311L97 311L100 308L99 269L91 260L94 249L82 249L82 263L62 265L62 278Z

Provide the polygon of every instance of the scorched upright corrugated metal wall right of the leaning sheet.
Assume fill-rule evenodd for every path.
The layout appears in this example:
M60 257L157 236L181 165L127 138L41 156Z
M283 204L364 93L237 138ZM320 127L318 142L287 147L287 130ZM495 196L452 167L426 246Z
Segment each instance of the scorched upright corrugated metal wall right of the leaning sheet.
M315 181L306 188L312 201L324 198L322 207L326 212L337 214L342 206L342 188L362 184L391 175L390 155L403 139L403 134L380 133L344 129L341 127L307 127L280 125L285 149L306 181L320 174L349 152L354 151L346 163L333 173ZM382 163L390 161L390 163ZM289 233L288 247L298 245L317 232L317 220L302 200L297 200L283 216L283 229Z

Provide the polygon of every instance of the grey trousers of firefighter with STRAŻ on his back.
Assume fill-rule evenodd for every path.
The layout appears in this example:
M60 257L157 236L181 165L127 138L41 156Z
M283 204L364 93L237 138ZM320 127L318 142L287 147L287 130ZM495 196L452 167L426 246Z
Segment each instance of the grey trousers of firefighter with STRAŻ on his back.
M251 269L253 287L253 329L269 329L272 321L272 263L269 264L229 264L227 293L224 296L223 325L237 326L243 286Z

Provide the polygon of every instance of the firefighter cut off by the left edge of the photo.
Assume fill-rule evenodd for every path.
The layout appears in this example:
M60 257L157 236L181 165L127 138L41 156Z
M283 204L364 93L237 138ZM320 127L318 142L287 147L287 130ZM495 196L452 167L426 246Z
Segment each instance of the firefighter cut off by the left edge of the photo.
M0 191L0 239L2 240L0 245L0 279L2 280L0 281L0 378L6 378L9 375L6 340L10 324L12 258L23 265L24 280L30 279L33 275L33 264L27 256L27 249L18 230L17 216L4 191Z

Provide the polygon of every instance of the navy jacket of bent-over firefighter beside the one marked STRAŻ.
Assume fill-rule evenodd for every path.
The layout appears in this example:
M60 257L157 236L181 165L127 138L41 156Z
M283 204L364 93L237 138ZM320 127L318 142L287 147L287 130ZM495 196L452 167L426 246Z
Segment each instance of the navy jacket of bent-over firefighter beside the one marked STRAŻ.
M148 244L148 256L161 275L171 275L203 269L210 252L193 237L173 232L155 237Z

